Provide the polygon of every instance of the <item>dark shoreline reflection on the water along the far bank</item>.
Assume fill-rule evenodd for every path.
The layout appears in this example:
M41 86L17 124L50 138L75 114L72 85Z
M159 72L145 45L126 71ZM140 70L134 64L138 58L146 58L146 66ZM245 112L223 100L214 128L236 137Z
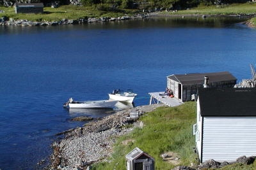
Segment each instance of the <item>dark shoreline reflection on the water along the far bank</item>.
M172 16L163 17L155 16L149 17L141 20L125 20L118 22L95 22L90 24L81 25L56 25L56 26L40 26L40 27L19 27L19 26L1 26L0 25L0 35L1 34L31 34L39 32L45 34L45 31L78 31L84 29L133 29L133 28L159 28L159 27L226 27L227 25L232 25L236 23L241 23L249 20L250 17L192 17L192 16ZM67 36L67 35L66 35Z

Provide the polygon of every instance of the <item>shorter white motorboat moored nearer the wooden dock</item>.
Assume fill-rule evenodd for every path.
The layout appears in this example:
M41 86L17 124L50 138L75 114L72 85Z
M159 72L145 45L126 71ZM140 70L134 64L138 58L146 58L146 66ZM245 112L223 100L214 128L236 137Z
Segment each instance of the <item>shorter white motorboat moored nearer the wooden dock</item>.
M120 101L122 103L132 103L133 99L137 94L132 92L132 90L127 90L127 92L121 92L120 90L113 90L111 94L108 94L109 100Z

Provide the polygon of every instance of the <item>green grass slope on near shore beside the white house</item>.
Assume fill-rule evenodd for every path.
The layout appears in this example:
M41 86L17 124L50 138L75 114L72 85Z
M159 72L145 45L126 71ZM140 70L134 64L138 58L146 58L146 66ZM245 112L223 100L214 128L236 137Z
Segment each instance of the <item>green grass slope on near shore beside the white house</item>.
M178 153L182 165L190 166L191 162L196 162L196 154L193 152L195 138L192 133L192 125L196 120L195 108L195 102L188 102L178 107L161 107L146 113L140 118L144 127L120 137L109 162L96 164L93 169L125 169L125 155L135 147L154 157L156 169L174 167L161 159L160 155L164 152Z

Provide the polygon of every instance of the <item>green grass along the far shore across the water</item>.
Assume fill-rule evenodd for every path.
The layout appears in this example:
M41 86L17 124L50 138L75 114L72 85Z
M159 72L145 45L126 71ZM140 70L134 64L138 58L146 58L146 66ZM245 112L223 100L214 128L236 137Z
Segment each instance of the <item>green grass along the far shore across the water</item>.
M104 6L108 6L104 4ZM78 19L87 17L122 17L125 14L134 15L139 13L137 10L124 10L118 11L102 11L100 4L93 6L75 6L66 5L60 6L59 8L44 8L44 14L15 14L13 8L5 8L0 6L0 10L4 13L0 13L0 17L13 18L14 20L23 19L31 21L59 21L63 18L66 19ZM180 10L175 13L173 12L161 12L169 15L247 15L256 13L256 3L244 3L244 4L230 4L226 6L198 6L191 8L190 10ZM256 19L251 20L256 25Z

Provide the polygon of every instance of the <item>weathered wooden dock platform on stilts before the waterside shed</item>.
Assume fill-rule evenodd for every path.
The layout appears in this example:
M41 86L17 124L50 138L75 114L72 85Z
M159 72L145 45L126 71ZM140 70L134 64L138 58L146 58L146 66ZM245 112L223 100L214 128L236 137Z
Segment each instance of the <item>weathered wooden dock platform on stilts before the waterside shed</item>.
M183 104L182 101L180 101L179 99L175 98L175 97L169 97L169 96L160 96L159 94L163 94L164 92L150 92L148 93L150 95L150 103L149 105L152 104L152 101L154 101L154 103L156 104L156 100L157 103L161 102L163 104L166 104L167 106L179 106L180 104ZM155 100L156 99L156 100Z

